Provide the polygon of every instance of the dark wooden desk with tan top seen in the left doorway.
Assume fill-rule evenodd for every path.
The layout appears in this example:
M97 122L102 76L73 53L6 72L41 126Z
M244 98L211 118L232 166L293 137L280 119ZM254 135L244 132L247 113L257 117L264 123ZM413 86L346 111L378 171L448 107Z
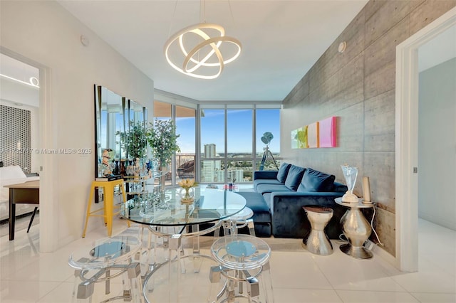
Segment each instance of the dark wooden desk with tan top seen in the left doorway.
M9 188L9 240L14 240L16 204L39 204L40 181L28 181L4 186Z

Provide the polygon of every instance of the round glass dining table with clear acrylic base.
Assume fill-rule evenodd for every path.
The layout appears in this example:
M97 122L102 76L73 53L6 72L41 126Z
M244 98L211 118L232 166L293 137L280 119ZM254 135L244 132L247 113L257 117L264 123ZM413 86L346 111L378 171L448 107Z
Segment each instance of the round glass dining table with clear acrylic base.
M161 294L160 298L157 298L159 288L164 285L167 288L175 287L172 291L165 291L166 294L178 296L179 275L185 272L182 269L185 264L183 258L192 259L193 270L189 270L192 273L198 273L203 262L212 262L207 260L207 255L200 253L199 236L212 231L217 233L222 220L239 213L246 206L245 198L233 191L201 187L194 189L195 199L191 203L181 202L180 188L170 188L164 193L152 192L136 196L127 201L120 210L122 218L139 223L142 229L150 230L146 248L148 264L143 280L146 302L160 302L165 299ZM153 241L152 236L155 239ZM157 243L157 238L162 239L162 243ZM188 254L185 254L182 248L184 238L192 238L193 241L192 251ZM161 259L157 256L158 250L165 251ZM175 252L175 257L172 257L172 252ZM172 275L170 268L174 265L181 268L174 270ZM157 271L161 272L156 279L154 276ZM208 276L204 279L208 279ZM175 299L178 298L167 297L168 301Z

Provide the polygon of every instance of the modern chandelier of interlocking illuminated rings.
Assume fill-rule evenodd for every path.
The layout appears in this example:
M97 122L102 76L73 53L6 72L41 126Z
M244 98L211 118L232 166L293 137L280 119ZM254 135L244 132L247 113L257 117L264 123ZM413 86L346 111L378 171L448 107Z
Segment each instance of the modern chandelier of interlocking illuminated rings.
M239 57L241 49L239 40L225 36L222 26L197 23L172 35L164 51L167 62L180 73L214 79L222 73L225 64Z

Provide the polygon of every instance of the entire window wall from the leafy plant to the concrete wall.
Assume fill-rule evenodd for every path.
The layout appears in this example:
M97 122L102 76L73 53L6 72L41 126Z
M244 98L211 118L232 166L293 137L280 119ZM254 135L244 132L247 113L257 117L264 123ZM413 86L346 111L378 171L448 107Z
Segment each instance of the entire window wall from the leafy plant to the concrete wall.
M279 102L186 106L155 101L154 118L173 119L180 135L180 151L168 168L166 184L187 178L203 184L246 183L253 181L255 170L276 170L281 160L280 110ZM262 140L265 133L272 134L266 136L267 143Z

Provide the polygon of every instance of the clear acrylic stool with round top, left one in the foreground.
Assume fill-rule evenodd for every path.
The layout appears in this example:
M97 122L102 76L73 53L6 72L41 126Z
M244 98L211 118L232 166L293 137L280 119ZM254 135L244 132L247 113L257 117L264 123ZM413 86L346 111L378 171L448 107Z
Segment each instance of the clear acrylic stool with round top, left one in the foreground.
M108 302L115 299L144 302L139 262L133 257L141 248L138 238L118 235L113 238L95 240L91 245L73 252L68 264L75 268L73 302ZM122 276L123 292L108 297L110 282ZM95 291L95 283L105 282L104 293Z

